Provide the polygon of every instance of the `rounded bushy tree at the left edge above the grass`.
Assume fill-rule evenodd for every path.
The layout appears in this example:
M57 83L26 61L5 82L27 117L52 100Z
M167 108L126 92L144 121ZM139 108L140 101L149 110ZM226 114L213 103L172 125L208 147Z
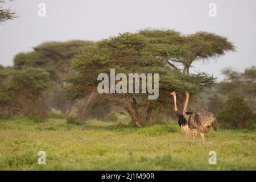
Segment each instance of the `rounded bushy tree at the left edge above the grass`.
M49 74L41 68L0 69L0 115L46 118L45 91L50 86Z

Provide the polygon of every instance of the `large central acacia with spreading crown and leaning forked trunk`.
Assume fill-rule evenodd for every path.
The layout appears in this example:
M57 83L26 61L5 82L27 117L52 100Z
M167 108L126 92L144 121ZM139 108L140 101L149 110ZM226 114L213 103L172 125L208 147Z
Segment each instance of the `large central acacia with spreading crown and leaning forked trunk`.
M65 92L73 99L97 93L97 76L100 73L110 75L110 68L117 73L159 73L159 98L148 100L148 94L104 94L114 105L122 106L130 114L138 127L146 118L146 112L152 104L170 106L169 93L189 91L196 94L204 86L214 83L214 78L205 73L186 75L166 63L167 56L162 56L163 48L171 44L152 42L151 38L138 34L119 34L119 36L97 42L96 46L86 47L72 60L71 72ZM170 49L166 49L171 52ZM164 52L164 51L163 51Z

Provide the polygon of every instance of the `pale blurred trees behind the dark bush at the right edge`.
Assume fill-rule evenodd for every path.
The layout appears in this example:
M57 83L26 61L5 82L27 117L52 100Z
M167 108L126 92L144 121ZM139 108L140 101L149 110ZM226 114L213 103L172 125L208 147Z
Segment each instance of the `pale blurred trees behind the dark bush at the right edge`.
M246 104L251 108L250 110L255 111L256 67L246 68L243 72L225 68L222 70L222 74L225 76L224 81L219 82L212 89L200 93L201 106L218 115L225 109L224 104L236 96L246 101ZM245 124L248 125L249 123L246 122Z

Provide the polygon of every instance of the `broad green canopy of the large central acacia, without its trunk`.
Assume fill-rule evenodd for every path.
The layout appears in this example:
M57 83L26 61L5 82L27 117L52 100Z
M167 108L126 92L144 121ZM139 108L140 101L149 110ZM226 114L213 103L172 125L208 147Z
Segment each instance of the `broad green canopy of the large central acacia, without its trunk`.
M65 89L73 98L84 97L97 86L98 74L108 74L110 68L122 73L159 73L162 90L196 93L201 86L212 85L214 78L205 73L186 76L163 65L164 59L155 55L158 46L140 34L125 33L101 40L75 56L66 78L72 85Z

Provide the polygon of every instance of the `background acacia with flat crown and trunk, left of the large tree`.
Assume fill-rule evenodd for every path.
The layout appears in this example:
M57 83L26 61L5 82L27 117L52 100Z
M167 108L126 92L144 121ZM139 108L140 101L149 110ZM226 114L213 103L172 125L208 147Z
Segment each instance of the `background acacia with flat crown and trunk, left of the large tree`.
M49 106L60 109L63 114L69 115L75 102L68 100L61 91L64 86L63 77L68 72L72 57L84 47L93 44L92 41L82 40L43 43L34 47L32 52L16 55L14 68L20 69L23 66L30 66L45 69L49 73L52 82L55 83L52 86L52 92L49 92Z

